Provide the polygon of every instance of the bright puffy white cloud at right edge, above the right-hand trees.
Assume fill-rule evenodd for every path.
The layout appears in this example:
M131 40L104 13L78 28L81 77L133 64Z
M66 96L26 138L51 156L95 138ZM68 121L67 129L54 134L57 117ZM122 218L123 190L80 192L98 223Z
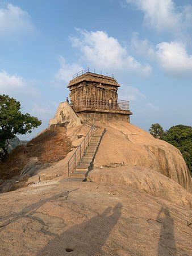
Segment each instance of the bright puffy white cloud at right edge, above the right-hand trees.
M156 46L156 58L162 69L172 75L192 73L192 55L180 42L162 42Z

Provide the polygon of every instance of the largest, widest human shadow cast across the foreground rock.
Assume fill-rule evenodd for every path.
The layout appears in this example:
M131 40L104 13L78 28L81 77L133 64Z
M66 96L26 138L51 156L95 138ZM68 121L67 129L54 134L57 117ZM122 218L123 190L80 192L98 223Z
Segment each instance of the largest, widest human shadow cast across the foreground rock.
M103 245L121 216L122 204L108 207L102 214L72 226L51 240L37 255L100 255ZM107 246L104 254L111 254Z

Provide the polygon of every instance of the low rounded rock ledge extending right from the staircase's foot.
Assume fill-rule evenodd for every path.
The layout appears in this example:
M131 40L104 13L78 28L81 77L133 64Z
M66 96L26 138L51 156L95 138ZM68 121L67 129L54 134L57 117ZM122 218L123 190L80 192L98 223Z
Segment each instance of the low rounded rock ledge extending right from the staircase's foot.
M191 194L177 182L146 167L111 167L94 169L87 180L104 184L127 185L183 207L191 207Z

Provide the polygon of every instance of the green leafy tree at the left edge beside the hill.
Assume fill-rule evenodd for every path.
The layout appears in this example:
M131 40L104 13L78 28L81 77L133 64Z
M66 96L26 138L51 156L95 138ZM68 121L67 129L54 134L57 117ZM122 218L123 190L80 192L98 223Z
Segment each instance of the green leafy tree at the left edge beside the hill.
M41 121L30 114L20 112L20 102L8 95L0 95L0 160L5 162L9 158L7 150L9 139L16 134L31 133L32 129L41 124Z

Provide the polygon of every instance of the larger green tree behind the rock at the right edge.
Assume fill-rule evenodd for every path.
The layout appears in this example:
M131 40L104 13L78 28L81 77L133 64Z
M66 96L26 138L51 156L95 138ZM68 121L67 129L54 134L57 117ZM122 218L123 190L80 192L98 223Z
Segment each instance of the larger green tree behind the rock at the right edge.
M192 127L186 125L172 126L166 131L163 139L181 151L187 167L192 172Z

